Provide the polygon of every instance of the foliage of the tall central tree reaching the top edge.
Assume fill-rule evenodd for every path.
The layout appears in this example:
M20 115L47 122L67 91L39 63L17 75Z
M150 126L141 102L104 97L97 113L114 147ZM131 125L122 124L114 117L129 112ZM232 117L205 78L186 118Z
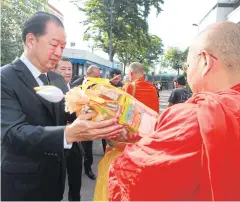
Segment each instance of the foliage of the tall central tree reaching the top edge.
M75 2L78 2L76 0ZM152 7L159 14L162 0L89 0L80 8L86 16L85 40L109 53L109 36L112 25L113 52L124 64L133 59L153 61L162 53L162 42L148 32L147 18ZM112 9L112 24L110 10ZM156 44L154 43L156 42ZM158 49L159 48L159 49Z

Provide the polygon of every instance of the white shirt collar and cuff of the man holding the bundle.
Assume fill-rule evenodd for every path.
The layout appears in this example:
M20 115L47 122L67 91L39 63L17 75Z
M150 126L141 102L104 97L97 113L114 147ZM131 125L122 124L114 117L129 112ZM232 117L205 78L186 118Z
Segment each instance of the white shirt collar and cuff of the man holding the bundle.
M29 71L32 73L33 77L36 79L37 83L39 86L43 86L42 80L39 78L39 76L42 74L24 55L20 57L20 60L27 66ZM45 73L47 76L47 73ZM64 149L71 149L72 144L67 144L66 136L65 136L65 131L64 131L64 138L63 138L63 143L64 143Z

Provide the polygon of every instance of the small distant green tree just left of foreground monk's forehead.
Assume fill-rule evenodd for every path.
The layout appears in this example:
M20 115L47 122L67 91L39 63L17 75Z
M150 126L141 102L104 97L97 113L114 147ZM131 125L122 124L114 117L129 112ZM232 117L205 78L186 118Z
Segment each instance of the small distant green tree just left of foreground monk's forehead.
M181 51L176 47L170 47L165 56L164 61L171 66L173 69L178 71L182 68L182 63L186 60L188 54L188 49Z

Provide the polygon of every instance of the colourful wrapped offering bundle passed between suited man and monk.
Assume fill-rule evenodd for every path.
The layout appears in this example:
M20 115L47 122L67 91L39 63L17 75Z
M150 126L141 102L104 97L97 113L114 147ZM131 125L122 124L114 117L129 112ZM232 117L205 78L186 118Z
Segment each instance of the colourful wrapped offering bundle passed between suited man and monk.
M125 131L119 139L128 142L136 132L152 132L158 114L137 101L128 93L112 86L107 79L87 78L81 87L71 89L65 95L66 111L77 115L93 110L97 116L93 121L117 118Z

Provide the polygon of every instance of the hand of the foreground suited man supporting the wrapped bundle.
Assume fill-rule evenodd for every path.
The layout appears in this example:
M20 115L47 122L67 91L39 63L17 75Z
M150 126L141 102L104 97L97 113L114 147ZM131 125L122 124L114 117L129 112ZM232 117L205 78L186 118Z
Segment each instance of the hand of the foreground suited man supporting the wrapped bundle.
M82 114L72 124L66 126L67 143L111 139L121 134L123 126L117 124L116 119L99 122L89 121L95 116L96 113Z

